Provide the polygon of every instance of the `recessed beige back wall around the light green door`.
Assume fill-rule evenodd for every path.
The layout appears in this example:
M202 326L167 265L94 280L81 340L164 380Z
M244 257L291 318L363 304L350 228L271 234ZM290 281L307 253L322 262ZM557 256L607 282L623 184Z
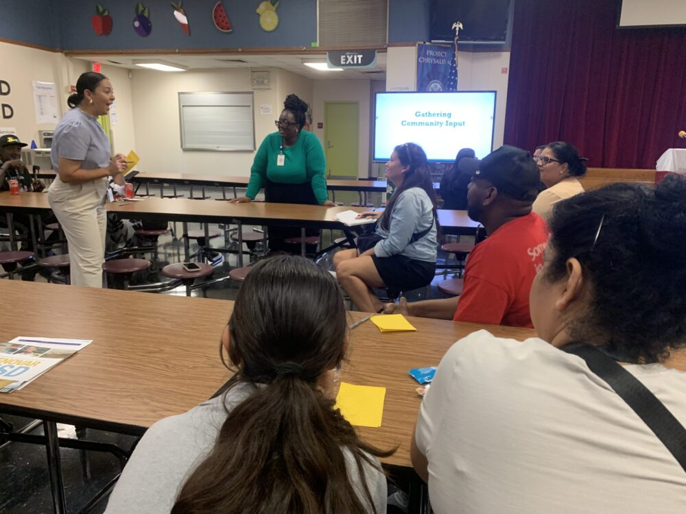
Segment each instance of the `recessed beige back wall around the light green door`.
M313 131L319 137L324 146L324 129L316 128L317 123L324 121L324 103L327 101L351 101L359 104L359 134L358 134L358 159L357 176L366 177L369 173L369 127L371 123L371 89L370 82L366 79L359 80L315 80L314 81L314 104Z

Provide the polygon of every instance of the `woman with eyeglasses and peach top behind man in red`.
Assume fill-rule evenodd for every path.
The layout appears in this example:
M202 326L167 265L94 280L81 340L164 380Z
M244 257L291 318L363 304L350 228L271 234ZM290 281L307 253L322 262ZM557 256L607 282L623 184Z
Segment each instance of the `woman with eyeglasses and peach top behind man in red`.
M584 192L578 178L586 174L588 159L579 156L571 143L556 141L546 145L534 160L539 164L541 182L546 189L536 197L532 210L547 220L558 201Z

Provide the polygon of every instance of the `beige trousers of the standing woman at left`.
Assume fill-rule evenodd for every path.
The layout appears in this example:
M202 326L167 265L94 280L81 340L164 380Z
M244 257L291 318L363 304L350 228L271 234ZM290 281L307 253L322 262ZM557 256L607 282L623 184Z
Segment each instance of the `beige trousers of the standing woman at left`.
M73 286L102 288L105 256L107 179L67 184L55 178L47 193L69 243Z

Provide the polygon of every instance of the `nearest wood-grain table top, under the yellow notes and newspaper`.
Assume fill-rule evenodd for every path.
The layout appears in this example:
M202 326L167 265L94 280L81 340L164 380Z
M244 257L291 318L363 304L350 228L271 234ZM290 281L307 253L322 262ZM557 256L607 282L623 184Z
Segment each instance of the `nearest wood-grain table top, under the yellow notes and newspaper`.
M61 305L69 305L68 316ZM0 341L93 339L21 391L0 395L0 412L141 435L158 419L206 400L231 375L218 354L233 309L228 300L0 280L0 307ZM350 315L354 321L364 314ZM526 328L408 319L416 332L382 334L370 322L352 330L341 374L344 382L386 387L381 427L357 430L380 448L399 445L383 461L401 467L411 467L421 403L409 369L438 365L454 341L482 328L519 341L534 335ZM667 365L686 370L686 351Z

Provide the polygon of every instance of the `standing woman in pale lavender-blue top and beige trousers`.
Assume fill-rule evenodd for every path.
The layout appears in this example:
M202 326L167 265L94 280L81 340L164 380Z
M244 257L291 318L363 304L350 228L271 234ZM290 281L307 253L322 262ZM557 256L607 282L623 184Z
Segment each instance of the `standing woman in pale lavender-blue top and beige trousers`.
M69 243L71 284L102 287L107 218L107 178L124 184L126 158L110 156L110 143L97 122L115 101L112 84L101 73L83 73L71 110L57 125L50 159L57 172L48 191L52 210Z

